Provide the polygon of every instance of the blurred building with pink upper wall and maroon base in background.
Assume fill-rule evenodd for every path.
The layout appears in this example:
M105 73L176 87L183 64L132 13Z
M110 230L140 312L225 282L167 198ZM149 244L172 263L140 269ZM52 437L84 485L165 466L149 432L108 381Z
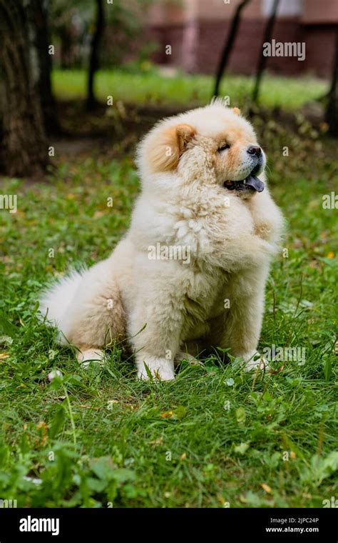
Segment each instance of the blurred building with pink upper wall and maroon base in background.
M185 71L215 72L222 46L240 0L157 0L147 14L146 39L158 42L158 64ZM242 10L228 69L252 74L273 0L251 0ZM305 43L305 58L270 56L267 69L275 74L311 73L328 77L334 58L338 0L280 0L272 39ZM171 54L166 54L166 46ZM168 48L167 48L168 51Z

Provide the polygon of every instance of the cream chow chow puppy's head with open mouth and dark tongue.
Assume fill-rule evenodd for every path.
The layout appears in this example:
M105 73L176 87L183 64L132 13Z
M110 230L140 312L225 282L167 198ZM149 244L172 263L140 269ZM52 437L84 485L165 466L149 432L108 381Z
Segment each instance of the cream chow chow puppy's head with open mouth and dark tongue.
M151 176L153 183L172 173L185 185L217 185L241 198L265 186L258 178L265 154L255 131L239 109L221 99L160 121L138 148L138 166L143 179Z

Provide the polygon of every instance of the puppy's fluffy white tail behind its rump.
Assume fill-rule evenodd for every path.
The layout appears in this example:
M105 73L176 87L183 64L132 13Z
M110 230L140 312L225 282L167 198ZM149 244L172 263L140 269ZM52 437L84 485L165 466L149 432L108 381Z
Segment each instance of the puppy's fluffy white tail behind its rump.
M66 277L41 292L39 299L40 312L53 326L59 326L63 315L67 312L76 295L85 271L85 269L81 271L73 270Z

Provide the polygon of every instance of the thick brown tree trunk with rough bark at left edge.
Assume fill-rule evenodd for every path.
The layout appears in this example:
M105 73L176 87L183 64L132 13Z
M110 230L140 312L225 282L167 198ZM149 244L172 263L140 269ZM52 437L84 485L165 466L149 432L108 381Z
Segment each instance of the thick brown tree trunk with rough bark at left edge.
M24 0L0 0L0 69L3 81L2 167L9 176L41 174L48 146L34 88L36 50L29 41Z

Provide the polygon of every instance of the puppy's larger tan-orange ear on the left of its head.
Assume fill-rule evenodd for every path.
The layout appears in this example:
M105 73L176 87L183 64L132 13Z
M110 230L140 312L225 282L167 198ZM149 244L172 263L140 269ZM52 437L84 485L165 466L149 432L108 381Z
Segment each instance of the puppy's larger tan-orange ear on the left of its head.
M169 171L177 167L180 156L195 136L195 129L189 124L177 124L154 134L150 145L149 159L153 171Z

